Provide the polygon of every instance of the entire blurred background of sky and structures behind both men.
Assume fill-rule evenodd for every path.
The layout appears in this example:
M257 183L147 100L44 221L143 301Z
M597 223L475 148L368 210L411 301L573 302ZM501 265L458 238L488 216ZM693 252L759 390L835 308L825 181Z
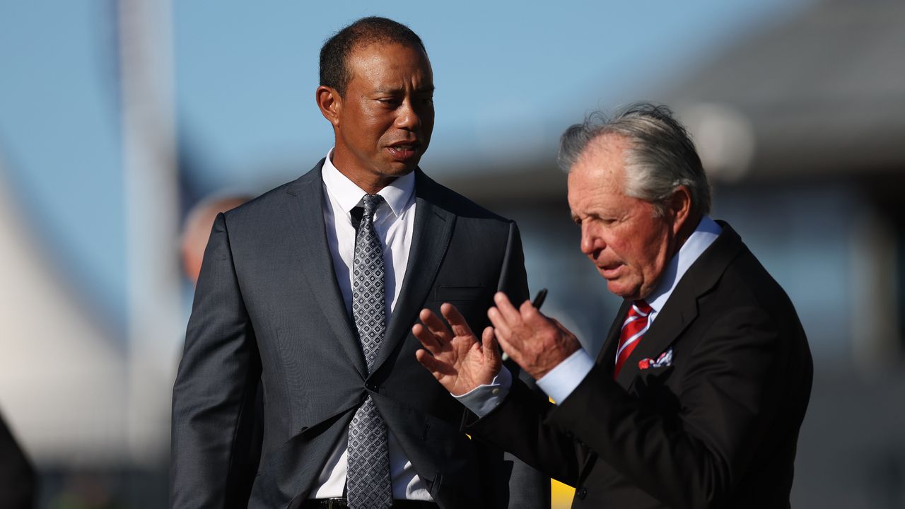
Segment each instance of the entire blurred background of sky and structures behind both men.
M532 289L592 351L618 303L578 250L557 138L597 108L671 105L712 216L811 341L793 505L905 507L900 0L0 0L0 412L41 507L166 506L183 224L326 155L319 47L370 14L431 56L422 168L519 221Z

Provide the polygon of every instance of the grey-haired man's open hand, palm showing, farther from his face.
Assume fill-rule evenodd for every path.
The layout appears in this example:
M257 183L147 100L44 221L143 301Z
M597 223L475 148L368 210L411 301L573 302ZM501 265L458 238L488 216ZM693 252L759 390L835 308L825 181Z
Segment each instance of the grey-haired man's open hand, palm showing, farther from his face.
M416 351L415 358L453 396L491 383L502 366L493 328L484 329L478 341L455 306L443 303L440 312L449 327L429 309L418 314L422 323L414 324L412 333L425 350Z

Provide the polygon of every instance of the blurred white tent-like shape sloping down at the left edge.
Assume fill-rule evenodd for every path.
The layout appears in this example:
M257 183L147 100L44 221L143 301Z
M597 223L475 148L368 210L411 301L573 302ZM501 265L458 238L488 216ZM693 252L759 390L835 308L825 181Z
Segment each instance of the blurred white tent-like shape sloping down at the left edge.
M122 461L125 352L55 272L2 169L0 408L38 464Z

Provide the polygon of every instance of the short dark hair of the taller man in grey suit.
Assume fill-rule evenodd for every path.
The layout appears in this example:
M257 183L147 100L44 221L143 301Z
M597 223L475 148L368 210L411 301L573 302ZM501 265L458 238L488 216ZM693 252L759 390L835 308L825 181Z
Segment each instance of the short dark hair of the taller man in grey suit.
M372 43L398 43L427 53L421 38L405 24L379 16L364 17L333 34L320 48L320 84L344 95L352 79L346 65L348 55Z

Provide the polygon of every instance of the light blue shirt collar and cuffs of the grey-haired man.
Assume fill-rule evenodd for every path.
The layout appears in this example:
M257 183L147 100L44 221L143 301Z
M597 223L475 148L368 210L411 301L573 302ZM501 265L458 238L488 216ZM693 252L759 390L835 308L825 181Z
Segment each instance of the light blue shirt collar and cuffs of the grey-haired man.
M672 256L670 263L663 271L660 282L645 299L653 309L647 318L651 325L669 300L682 276L685 275L691 264L713 244L713 241L717 240L720 232L722 232L722 228L713 219L710 219L710 216L704 216L685 244L681 246L679 253ZM615 362L615 358L613 362ZM572 391L578 387L581 380L585 379L592 368L594 368L594 359L585 349L579 348L541 379L538 379L538 387L546 392L550 399L557 403L561 402L572 394ZM459 399L465 407L480 418L496 408L509 394L511 387L512 375L503 367L500 374L490 384L481 385L456 399Z

